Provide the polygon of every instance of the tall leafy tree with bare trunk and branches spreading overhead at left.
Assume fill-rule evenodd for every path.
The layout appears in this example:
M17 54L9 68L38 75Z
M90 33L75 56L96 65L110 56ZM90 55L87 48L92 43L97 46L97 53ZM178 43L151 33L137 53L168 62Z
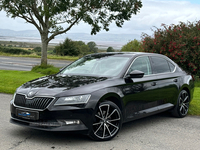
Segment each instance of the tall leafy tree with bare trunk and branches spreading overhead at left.
M96 34L101 29L108 31L112 21L122 27L141 7L140 0L0 0L0 10L24 19L39 31L43 65L47 65L48 43L80 21L89 24L91 34Z

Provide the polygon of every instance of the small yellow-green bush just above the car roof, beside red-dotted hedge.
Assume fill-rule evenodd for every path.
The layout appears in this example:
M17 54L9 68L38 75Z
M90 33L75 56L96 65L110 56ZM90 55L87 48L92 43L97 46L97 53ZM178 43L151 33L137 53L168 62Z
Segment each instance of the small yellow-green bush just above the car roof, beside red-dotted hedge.
M121 49L123 52L140 52L142 51L141 43L134 39L133 41L128 42L126 45L124 45Z

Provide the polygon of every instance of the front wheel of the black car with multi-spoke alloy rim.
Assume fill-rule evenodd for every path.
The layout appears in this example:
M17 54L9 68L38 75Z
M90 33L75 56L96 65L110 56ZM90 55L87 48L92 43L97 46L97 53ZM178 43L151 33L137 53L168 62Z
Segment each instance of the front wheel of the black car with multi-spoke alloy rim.
M117 135L121 125L122 114L119 107L111 101L102 102L94 113L89 136L97 141L110 140Z

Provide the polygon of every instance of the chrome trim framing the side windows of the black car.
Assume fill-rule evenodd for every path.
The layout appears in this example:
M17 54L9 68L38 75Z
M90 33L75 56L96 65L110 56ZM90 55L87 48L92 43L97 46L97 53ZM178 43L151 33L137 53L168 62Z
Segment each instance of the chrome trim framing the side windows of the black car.
M137 59L137 58L139 58L139 57L152 57L152 56L154 56L154 57L160 57L160 58L163 58L163 59L165 59L166 61L169 61L170 63L172 63L175 67L174 67L174 70L172 71L172 72L164 72L164 73L152 73L152 74L150 74L150 75L144 75L144 77L148 77L148 76L155 76L155 75L162 75L162 74L169 74L169 73L174 73L175 71L176 71L176 65L170 60L170 59L166 59L165 57L163 57L163 56L155 56L155 55L144 55L144 56L138 56L138 57L136 57L136 58L134 58L134 60L132 61L132 63L129 65L129 67L128 67L128 69L126 70L126 73L125 73L125 75L124 75L124 77L123 78L125 78L126 76L127 76L127 73L128 73L128 71L129 71L129 69L131 68L131 66L132 66L132 64L135 62L135 60ZM151 61L150 59L149 59L149 61ZM152 65L151 65L151 67L152 67ZM152 68L151 68L152 69Z

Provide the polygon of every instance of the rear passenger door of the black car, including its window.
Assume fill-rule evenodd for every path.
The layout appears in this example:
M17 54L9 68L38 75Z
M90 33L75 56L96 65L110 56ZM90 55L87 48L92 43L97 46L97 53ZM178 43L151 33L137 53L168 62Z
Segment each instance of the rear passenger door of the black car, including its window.
M153 74L157 77L156 86L160 96L160 104L173 104L179 92L179 78L178 73L175 73L175 65L164 57L150 56L150 60Z

